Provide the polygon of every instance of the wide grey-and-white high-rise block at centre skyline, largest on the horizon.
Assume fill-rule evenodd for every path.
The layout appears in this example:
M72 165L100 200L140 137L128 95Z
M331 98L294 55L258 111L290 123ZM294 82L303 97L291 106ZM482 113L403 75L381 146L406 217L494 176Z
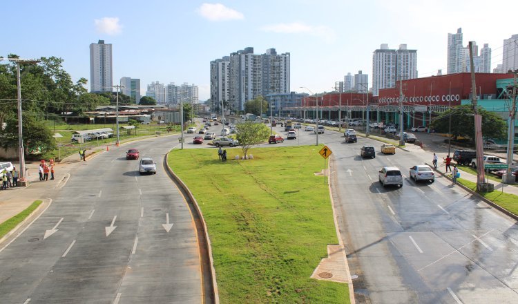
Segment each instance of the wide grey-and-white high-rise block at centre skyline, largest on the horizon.
M211 61L211 108L218 111L225 102L230 111L242 111L258 96L289 93L289 67L289 53L279 55L274 48L262 55L244 48Z

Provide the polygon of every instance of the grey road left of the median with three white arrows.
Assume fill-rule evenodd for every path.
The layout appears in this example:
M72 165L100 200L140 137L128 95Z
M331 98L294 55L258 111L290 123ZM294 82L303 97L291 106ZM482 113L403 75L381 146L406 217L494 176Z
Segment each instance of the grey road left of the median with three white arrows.
M162 162L176 144L157 137L81 163L0 252L0 303L202 303L193 220ZM157 174L140 175L128 148Z

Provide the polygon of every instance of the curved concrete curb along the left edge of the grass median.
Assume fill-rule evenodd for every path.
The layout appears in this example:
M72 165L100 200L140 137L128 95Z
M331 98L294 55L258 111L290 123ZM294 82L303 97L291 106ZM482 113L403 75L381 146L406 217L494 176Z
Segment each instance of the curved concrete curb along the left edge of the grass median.
M171 151L172 151L172 149L171 149ZM171 152L171 151L169 151L169 152ZM218 292L218 283L217 283L216 277L215 277L214 260L212 258L211 239L209 238L209 232L208 232L209 230L207 229L207 223L205 222L205 219L203 218L202 210L200 209L200 206L198 205L198 201L194 198L193 193L191 193L189 188L178 177L178 175L176 175L173 172L173 169L171 169L169 167L169 152L166 153L166 157L165 157L165 167L166 167L166 170L168 171L169 175L171 177L173 177L173 180L175 182L177 182L180 185L180 187L182 187L182 190L185 191L185 193L187 193L187 196L189 196L189 200L191 200L191 202L193 202L193 205L195 207L195 211L196 211L196 213L198 213L197 216L198 216L198 218L200 218L200 222L202 223L203 234L204 234L205 240L207 240L207 258L209 258L209 265L211 267L211 278L210 278L210 280L211 280L212 289L213 289L213 295L211 297L213 298L213 301L214 301L215 304L219 304L220 303L220 296L219 296L219 292ZM201 254L202 253L200 252L200 255Z

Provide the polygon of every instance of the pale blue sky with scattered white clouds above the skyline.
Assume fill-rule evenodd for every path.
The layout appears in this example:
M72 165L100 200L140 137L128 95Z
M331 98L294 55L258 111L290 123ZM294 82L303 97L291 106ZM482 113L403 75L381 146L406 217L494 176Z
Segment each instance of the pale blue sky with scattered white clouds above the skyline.
M45 3L42 5L41 3ZM291 54L291 91L334 90L347 73L369 75L381 44L417 50L419 77L446 73L448 33L492 48L518 34L516 0L8 1L2 6L0 56L60 57L74 81L90 78L89 45L113 45L113 84L140 78L199 88L210 97L210 61L253 47ZM88 84L88 89L90 88Z

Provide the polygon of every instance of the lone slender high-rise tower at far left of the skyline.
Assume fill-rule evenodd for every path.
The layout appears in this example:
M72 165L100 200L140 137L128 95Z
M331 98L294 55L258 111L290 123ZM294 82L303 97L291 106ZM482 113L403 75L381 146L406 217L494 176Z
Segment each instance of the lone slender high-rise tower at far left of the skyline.
M112 75L111 44L90 44L90 92L111 92Z

